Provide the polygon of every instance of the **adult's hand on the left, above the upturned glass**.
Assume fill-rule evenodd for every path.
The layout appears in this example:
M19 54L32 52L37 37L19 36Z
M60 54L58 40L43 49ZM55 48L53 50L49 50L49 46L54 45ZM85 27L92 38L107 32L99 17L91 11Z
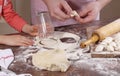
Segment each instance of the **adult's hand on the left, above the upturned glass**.
M43 1L46 3L51 16L62 21L70 18L70 13L72 9L65 0L43 0Z

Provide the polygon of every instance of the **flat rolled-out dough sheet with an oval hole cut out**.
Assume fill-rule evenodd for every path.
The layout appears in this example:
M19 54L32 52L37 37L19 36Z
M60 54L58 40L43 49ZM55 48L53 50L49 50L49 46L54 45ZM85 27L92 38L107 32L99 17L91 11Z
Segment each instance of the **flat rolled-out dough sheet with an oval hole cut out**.
M73 38L75 42L65 43L60 40L62 38ZM74 48L79 47L79 41L80 41L80 37L75 34L56 31L53 36L50 36L46 39L39 39L39 37L36 37L34 45L39 47L47 47L47 48L63 49L66 51L71 51Z

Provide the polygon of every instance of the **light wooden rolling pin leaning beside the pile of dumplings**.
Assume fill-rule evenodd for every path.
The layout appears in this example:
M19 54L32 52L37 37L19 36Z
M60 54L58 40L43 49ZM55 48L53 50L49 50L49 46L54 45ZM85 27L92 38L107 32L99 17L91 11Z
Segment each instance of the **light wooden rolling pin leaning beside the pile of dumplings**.
M86 46L90 45L91 43L96 43L98 41L102 41L106 37L120 32L120 18L100 27L99 29L95 30L92 34L92 37L80 44L81 48L85 48Z

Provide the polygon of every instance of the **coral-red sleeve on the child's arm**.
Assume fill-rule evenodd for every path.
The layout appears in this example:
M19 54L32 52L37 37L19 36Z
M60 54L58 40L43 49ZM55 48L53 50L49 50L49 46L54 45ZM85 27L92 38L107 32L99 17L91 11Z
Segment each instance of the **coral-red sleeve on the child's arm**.
M14 29L16 29L19 32L22 32L22 28L27 22L25 22L14 10L12 7L11 0L7 0L7 3L4 3L3 5L3 12L2 15L6 22L10 26L12 26Z

